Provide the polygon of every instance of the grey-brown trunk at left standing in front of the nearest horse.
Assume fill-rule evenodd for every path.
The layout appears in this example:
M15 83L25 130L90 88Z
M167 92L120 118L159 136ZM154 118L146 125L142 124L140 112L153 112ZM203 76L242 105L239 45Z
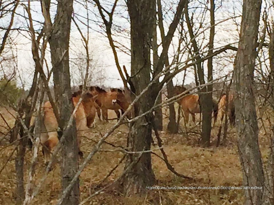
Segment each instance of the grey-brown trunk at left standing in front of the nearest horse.
M75 122L65 129L73 111L72 94L70 88L69 72L69 36L70 23L73 10L73 0L58 2L57 14L49 44L51 47L51 62L53 65L53 81L55 101L60 110L62 119L63 135L63 163L62 163L62 186L63 190L69 185L78 169L78 147ZM73 185L70 194L62 204L78 204L79 180Z

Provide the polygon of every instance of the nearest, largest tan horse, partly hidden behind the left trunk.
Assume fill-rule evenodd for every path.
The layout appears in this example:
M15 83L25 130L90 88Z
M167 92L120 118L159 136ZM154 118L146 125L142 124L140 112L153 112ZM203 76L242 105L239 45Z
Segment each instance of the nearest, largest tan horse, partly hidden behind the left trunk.
M75 92L72 95L73 105L76 106L79 102L81 92ZM83 100L79 104L78 109L74 114L76 129L77 129L77 144L78 144L78 154L83 156L82 151L80 151L80 136L83 136L84 130L92 124L95 118L95 107L94 101L97 96L93 96L90 93L83 95ZM58 139L58 123L53 112L51 103L47 101L43 106L43 123L42 123L42 133L40 136L41 144L43 145L42 152L45 157L45 163L49 163L50 153L54 150L59 142Z

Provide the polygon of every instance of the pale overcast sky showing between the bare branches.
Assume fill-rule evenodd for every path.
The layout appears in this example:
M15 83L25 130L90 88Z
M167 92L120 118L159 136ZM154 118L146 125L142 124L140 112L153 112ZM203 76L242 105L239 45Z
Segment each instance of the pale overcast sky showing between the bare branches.
M54 2L54 1L53 1ZM104 1L101 1L104 2ZM126 7L123 4L124 1L118 1L121 2L118 3L116 13L114 15L114 22L113 22L113 33L114 33L114 40L119 42L119 44L125 46L126 48L130 48L130 24L128 22L128 13L126 11ZM221 46L235 43L233 46L237 47L237 41L238 41L238 30L239 30L239 24L241 18L238 17L236 19L229 19L224 21L225 19L237 16L241 14L241 1L232 1L229 0L223 0L222 4L221 1L216 1L216 12L215 12L215 23L217 25L215 26L215 39L214 39L214 46L216 48L219 48ZM103 4L107 8L110 8L108 4ZM221 7L220 7L221 6ZM41 5L39 2L32 2L31 3L32 15L33 19L39 22L43 22L43 16L41 14ZM171 22L171 19L173 18L174 14L172 9L176 8L176 4L174 3L168 3L168 1L163 1L163 14L165 18L165 30L167 32L168 25ZM97 8L93 5L88 6L88 14L89 18L92 19L89 21L89 51L90 51L90 58L91 61L91 76L89 79L88 84L90 85L99 85L99 86L105 86L105 87L122 87L123 83L120 78L120 75L118 73L118 70L115 65L114 61L114 55L112 53L112 50L109 46L108 39L105 37L104 34L102 34L104 31L101 27L101 19L98 16ZM51 16L52 20L54 17L54 13L56 11L56 6L51 7ZM200 28L199 33L200 35L197 36L197 42L199 45L201 45L202 50L206 50L206 45L208 42L208 39L203 40L204 36L208 38L209 36L209 13L206 13L206 17L202 16L201 14L201 8L200 4L197 4L196 1L192 1L190 3L190 9L189 13L190 16L193 14L193 21L196 28L199 28L199 23L201 19L204 19L203 21L203 27ZM25 15L25 11L23 7L20 7L17 10L18 14L14 23L14 28L19 26L27 26L26 20L21 17L20 15ZM86 23L86 9L83 5L79 3L74 3L74 17L76 21L78 22L82 32L85 36L87 36L87 28L85 25L81 24L80 22ZM221 22L221 23L219 23ZM238 26L235 25L235 22L238 24ZM6 24L5 19L1 19L1 23L4 25ZM41 28L41 24L34 22L35 29ZM186 26L186 25L184 25ZM238 30L237 30L238 29ZM205 31L204 31L205 30ZM117 32L119 31L119 32ZM204 31L204 34L201 32ZM158 38L160 39L160 32L157 31ZM0 32L1 33L1 32ZM178 33L177 33L178 34ZM177 35L176 34L176 35ZM34 73L34 62L32 59L32 53L31 53L31 42L29 40L29 34L27 32L21 32L18 34L17 32L13 32L11 35L11 38L13 39L14 44L12 45L13 52L17 53L17 60L16 64L18 67L18 75L16 76L16 80L19 86L24 85L25 89L28 89L31 86L32 76ZM186 38L188 37L188 34L186 33ZM160 40L158 41L158 44L160 44ZM117 46L120 46L116 43ZM178 38L176 36L173 38L172 45L169 49L170 56L174 55L174 49L178 47ZM9 47L6 48L8 50L9 54L11 52L11 49ZM49 48L48 48L49 50ZM120 66L126 65L127 71L130 74L130 51L127 49L123 49L122 51L118 51L118 59ZM161 52L161 46L159 46L158 49L159 53ZM70 33L70 69L71 69L71 84L72 86L77 86L79 83L81 83L81 72L85 70L85 63L84 63L84 47L82 44L81 37L79 35L79 32L72 22L72 28ZM213 59L213 66L216 70L215 77L219 75L224 75L229 70L233 69L233 61L231 61L231 56L235 55L235 52L228 51L225 54L222 54L221 56L223 58L220 58L220 56L217 56ZM227 58L225 58L225 56ZM80 59L82 58L82 59ZM186 60L188 56L186 54L182 54L182 62ZM46 59L48 64L50 65L50 55L49 52L47 52ZM170 59L170 61L172 58ZM11 70L9 68L11 64L9 65L2 65L2 71L0 71L0 77L3 75L3 70L6 71L6 73L9 73L8 71ZM206 62L204 63L204 69L206 73ZM181 84L183 78L183 73L178 74L174 79L174 84ZM194 74L192 70L187 71L185 84L191 83L194 81ZM52 81L50 81L52 84Z

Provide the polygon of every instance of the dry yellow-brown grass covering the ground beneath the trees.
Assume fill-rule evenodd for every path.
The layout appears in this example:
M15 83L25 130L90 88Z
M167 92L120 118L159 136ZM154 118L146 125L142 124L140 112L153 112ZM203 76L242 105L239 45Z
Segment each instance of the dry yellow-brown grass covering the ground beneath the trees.
M0 110L3 114L3 109ZM109 117L114 117L114 112L109 112ZM11 125L14 120L5 113ZM166 120L164 121L166 122ZM0 120L0 124L3 122ZM114 122L108 124L97 124L97 127L86 133L86 138L82 139L81 149L86 156L95 144L94 140L100 138L100 132L104 133ZM164 126L166 127L166 126ZM183 125L181 126L184 127ZM1 131L3 132L2 128ZM198 131L198 128L196 128ZM126 136L128 128L123 125L108 138L108 142L116 145L126 146ZM186 139L185 134L168 134L165 131L160 133L163 140L164 150L168 155L169 162L176 171L184 175L193 177L196 181L190 181L175 176L167 168L165 163L152 155L153 170L157 178L157 185L160 186L240 186L242 183L241 166L236 146L235 128L229 128L227 147L215 147L217 128L213 128L212 147L203 149L198 146L198 136L189 134ZM2 135L1 135L2 136ZM0 136L0 138L1 138ZM260 132L260 144L263 158L267 156L267 137L264 132ZM154 141L156 138L154 137ZM0 146L2 149L7 145L7 141ZM104 144L103 149L114 149L110 145ZM10 146L0 151L1 167L13 151L14 146ZM161 155L160 150L156 151ZM90 187L99 184L109 171L118 163L123 156L120 152L100 152L97 153L80 176L81 200L89 196ZM27 151L25 157L25 169L30 164L31 151ZM15 204L15 155L7 163L0 177L0 204ZM117 179L122 173L124 164L106 181ZM43 175L45 166L43 156L39 151L38 163L36 166L35 183ZM26 173L26 172L25 172ZM33 204L55 204L61 190L60 167L55 163L53 171L47 177L38 196L33 199ZM87 204L243 204L243 190L148 190L144 196L124 197L113 192L103 192L94 196Z

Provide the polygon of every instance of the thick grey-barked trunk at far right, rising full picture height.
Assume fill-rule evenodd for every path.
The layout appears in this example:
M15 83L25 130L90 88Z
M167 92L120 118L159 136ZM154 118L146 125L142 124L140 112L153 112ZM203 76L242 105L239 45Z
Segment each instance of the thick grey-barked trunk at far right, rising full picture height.
M264 188L263 164L255 110L254 67L261 0L244 0L238 52L234 67L235 113L243 186ZM245 189L245 204L262 204L263 190Z

